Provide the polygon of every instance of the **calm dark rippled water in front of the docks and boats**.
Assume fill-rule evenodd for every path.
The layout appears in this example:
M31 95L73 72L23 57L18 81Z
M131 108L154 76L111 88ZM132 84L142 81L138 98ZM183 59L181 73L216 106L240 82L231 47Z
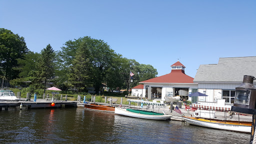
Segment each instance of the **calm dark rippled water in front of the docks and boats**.
M250 134L90 111L0 111L0 143L248 143Z

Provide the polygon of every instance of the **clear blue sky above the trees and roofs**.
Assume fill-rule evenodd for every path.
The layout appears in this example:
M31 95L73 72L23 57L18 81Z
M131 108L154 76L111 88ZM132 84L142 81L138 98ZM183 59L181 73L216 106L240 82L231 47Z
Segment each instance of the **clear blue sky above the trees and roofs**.
M34 52L102 39L158 75L177 59L195 76L219 57L256 56L256 0L0 0L0 27Z

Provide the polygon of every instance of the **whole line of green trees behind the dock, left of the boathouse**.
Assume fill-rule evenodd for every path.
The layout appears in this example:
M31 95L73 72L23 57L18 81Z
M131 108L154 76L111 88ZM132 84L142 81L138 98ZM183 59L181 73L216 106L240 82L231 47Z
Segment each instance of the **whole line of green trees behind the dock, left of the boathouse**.
M50 82L63 90L94 87L97 92L102 83L112 89L127 89L157 75L152 65L122 57L101 39L84 36L68 40L60 48L54 51L48 44L39 53L33 52L24 37L0 28L0 78L12 86L29 81L31 89L45 89ZM130 71L134 73L132 82Z

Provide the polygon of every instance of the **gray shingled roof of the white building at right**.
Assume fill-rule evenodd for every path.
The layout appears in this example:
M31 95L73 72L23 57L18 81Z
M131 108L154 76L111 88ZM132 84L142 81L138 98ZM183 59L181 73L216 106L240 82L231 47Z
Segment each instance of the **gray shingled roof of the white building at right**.
M240 82L243 75L256 77L256 56L223 57L218 64L201 64L193 82Z

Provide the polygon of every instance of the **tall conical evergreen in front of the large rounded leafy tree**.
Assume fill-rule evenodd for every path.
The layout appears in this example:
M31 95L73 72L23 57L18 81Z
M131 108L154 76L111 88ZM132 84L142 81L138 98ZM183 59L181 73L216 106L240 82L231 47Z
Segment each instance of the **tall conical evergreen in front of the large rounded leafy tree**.
M70 72L67 74L67 86L83 91L85 87L92 86L90 52L86 43L81 43L76 51L75 58L70 65Z

